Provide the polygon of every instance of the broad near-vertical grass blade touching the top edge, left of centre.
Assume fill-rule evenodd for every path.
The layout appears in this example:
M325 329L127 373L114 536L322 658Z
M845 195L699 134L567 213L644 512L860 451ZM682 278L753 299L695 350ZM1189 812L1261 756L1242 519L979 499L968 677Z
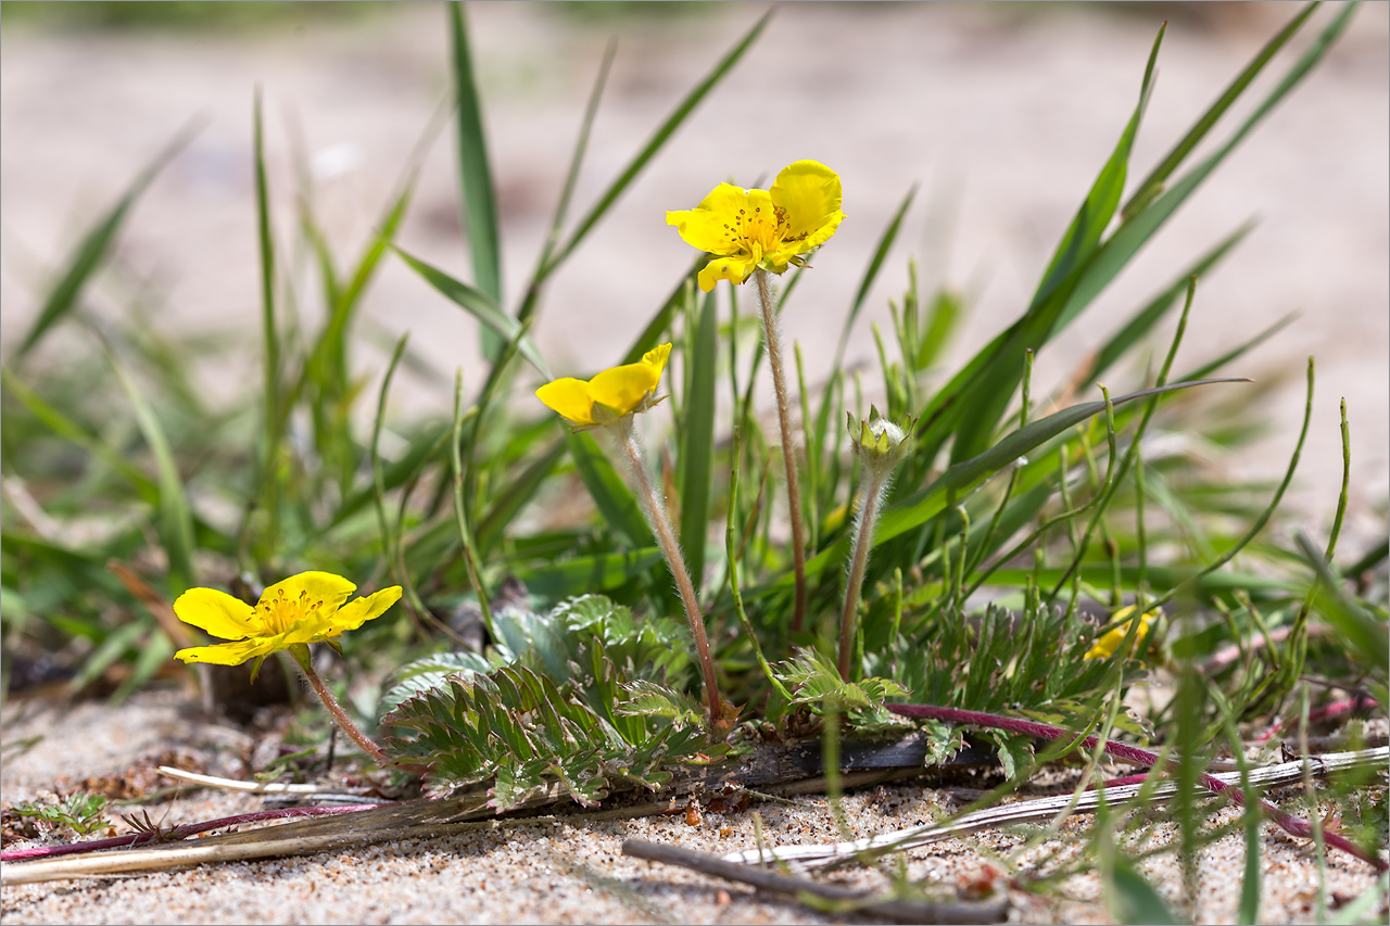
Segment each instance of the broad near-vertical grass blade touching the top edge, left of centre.
M480 291L502 303L502 247L498 204L482 131L482 99L473 72L468 28L463 4L449 4L450 65L455 104L459 108L459 189L463 193L463 227L468 234L473 274ZM503 335L505 338L506 335ZM489 356L498 349L495 345Z

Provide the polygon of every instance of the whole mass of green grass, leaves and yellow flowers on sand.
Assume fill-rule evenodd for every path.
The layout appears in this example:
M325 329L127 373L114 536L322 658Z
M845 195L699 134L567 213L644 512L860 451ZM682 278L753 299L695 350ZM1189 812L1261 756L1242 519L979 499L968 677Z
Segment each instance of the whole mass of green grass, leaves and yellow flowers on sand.
M1201 311L1198 279L1245 227L1173 268L1168 285L1045 398L1033 382L1033 359L1083 324L1097 296L1327 54L1355 10L1330 13L1272 89L1219 138L1218 125L1234 117L1237 100L1282 60L1315 8L1298 11L1134 182L1131 156L1154 90L1159 29L1134 108L1019 317L945 370L942 346L969 304L948 288L923 292L909 261L908 289L888 304L891 331L874 327L883 380L870 382L845 368L845 345L894 252L913 203L909 192L867 256L831 367L808 378L799 350L791 352L798 407L777 317L795 311L795 293L815 285L813 252L826 249L817 260L851 257L834 250L831 236L853 190L842 190L835 171L816 161L791 164L769 190L721 184L694 209L667 213L708 259L671 281L669 298L627 338L626 353L592 360L603 373L557 377L531 339L550 275L614 214L767 18L571 221L612 54L603 58L549 235L509 309L484 100L463 7L450 4L452 114L471 282L395 243L417 157L382 210L378 236L346 274L311 199L302 199L296 231L314 254L327 317L316 331L293 318L257 103L260 389L236 413L210 417L186 370L152 363L183 348L118 324L101 350L131 414L113 414L110 391L92 388L92 370L54 374L26 357L56 327L82 320L79 295L170 153L161 156L83 241L6 360L7 487L21 480L33 487L46 517L63 519L92 499L121 514L99 544L79 545L40 530L33 517L26 523L21 514L29 509L7 503L0 549L7 635L43 645L86 640L78 683L128 660L122 695L149 681L175 648L185 660L202 653L231 663L254 658L257 666L286 649L377 766L413 776L434 795L489 787L499 812L553 794L594 805L620 784L660 791L682 769L821 733L834 754L841 737L894 737L910 726L926 731L927 762L935 763L965 744L969 726L992 745L1004 772L987 799L1040 763L1066 758L1084 767L1080 794L1104 755L1127 755L1180 784L1169 812L1191 888L1191 862L1211 838L1204 788L1236 794L1258 822L1252 788L1216 788L1202 770L1223 748L1245 761L1241 723L1305 705L1309 674L1383 712L1384 584L1358 590L1343 576L1383 573L1387 549L1352 563L1343 556L1339 566L1346 484L1323 544L1298 537L1290 545L1268 530L1308 437L1311 359L1302 432L1277 485L1212 476L1194 466L1190 449L1161 439L1183 434L1188 448L1238 444L1248 435L1243 428L1202 421L1202 403L1216 396L1240 409L1237 417L1261 417L1258 393L1243 393L1238 375L1218 374L1236 368L1283 323L1211 363L1179 362L1187 318ZM856 221L869 218L856 213ZM461 374L455 377L452 421L392 421L403 449L391 459L382 452L384 410L393 374L410 357L406 338L384 371L371 432L353 425L366 395L353 373L354 321L385 260L400 260L477 320L486 368L471 398ZM730 285L720 288L719 279ZM756 320L742 304L744 281L753 282ZM1175 313L1162 363L1136 371L1127 362L1150 350ZM764 360L777 396L776 438L760 427L764 410L755 403ZM149 378L138 380L132 368ZM1102 377L1129 391L1112 395ZM563 423L528 395L537 385L535 396ZM1099 398L1074 398L1083 393ZM867 414L866 396L873 396ZM656 449L644 452L634 414L663 399L662 414L648 416L656 419L646 431ZM848 442L841 420L849 421ZM131 446L145 453L135 463ZM1343 419L1344 455L1350 448ZM627 478L609 452L626 462ZM82 480L44 482L40 474L53 471L54 460L81 470ZM543 517L548 499L575 492L592 501L581 523ZM234 501L239 521L228 527L204 516L204 495ZM723 544L710 539L719 527ZM107 571L108 560L158 562L142 570L152 594L136 598ZM295 613L264 598L252 609L263 588L272 595L285 576L306 569L399 588L345 608L356 608L352 620L336 610L350 583L327 605L310 595ZM195 571L232 595L186 592ZM503 587L521 591L502 601ZM160 608L181 594L172 609ZM189 594L202 596L207 613L185 615L179 606ZM395 619L366 623L396 596L403 608ZM192 645L165 610L234 642ZM461 642L466 613L481 627L481 647ZM238 630L246 633L236 637ZM345 630L353 633L339 637ZM391 674L375 717L354 720L318 681L309 645L320 641L339 649L350 672ZM1151 710L1126 701L1136 683L1154 679L1172 683L1170 699ZM384 729L375 740L373 722ZM1116 747L1112 737L1120 736L1131 744ZM1049 745L1040 748L1040 738ZM1156 754L1138 748L1150 742L1159 744ZM834 774L838 765L830 765ZM1354 788L1340 784L1332 794L1343 799ZM1383 819L1383 808L1373 804L1371 816ZM1322 845L1318 813L1309 818L1308 831ZM1170 915L1129 859L1111 858L1131 826L1140 823L1102 813L1081 862L1033 866L1026 877L1020 856L1006 863L1041 891L1099 859L1116 915ZM1250 826L1258 836L1257 823ZM1302 834L1301 826L1290 831ZM1380 859L1383 827L1358 823L1352 840L1362 858ZM1248 847L1257 863L1247 887L1258 893L1255 836ZM1252 904L1243 915L1255 915Z

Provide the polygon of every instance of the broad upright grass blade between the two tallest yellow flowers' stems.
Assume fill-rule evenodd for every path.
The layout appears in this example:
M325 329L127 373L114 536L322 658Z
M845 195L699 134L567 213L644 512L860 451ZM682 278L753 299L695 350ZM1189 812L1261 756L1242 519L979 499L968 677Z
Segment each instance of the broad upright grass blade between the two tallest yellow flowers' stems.
M687 357L685 421L680 428L681 546L696 585L705 574L705 533L709 521L710 476L714 460L714 377L719 371L719 325L714 293L706 293Z

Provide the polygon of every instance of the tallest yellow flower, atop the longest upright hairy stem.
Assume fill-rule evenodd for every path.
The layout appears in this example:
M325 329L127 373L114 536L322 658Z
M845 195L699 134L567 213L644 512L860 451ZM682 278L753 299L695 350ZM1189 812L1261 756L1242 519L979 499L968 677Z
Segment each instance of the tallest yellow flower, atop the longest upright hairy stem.
M805 266L844 221L840 175L819 161L783 168L770 190L720 184L695 209L666 213L685 243L714 254L699 271L709 292L720 279L744 282L755 268L774 274Z

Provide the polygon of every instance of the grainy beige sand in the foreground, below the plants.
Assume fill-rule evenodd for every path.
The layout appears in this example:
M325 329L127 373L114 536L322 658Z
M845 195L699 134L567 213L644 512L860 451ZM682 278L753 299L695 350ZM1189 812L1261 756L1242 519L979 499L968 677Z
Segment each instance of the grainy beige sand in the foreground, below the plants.
M167 756L171 751L178 754L175 762L181 767L197 765L214 774L236 774L239 756L265 747L264 740L240 727L199 716L195 702L175 691L142 694L114 712L95 702L72 708L7 705L7 740L33 736L42 736L43 741L7 755L6 801L46 794L60 776L70 780L121 776L139 759ZM81 752L81 762L72 761L74 751ZM945 791L915 784L865 788L842 804L853 837L926 823L958 806ZM165 826L260 808L261 798L207 791L142 806ZM730 815L705 812L698 822L682 811L606 822L562 813L303 858L6 887L0 891L0 913L7 923L869 922L852 915L817 913L721 879L620 855L624 838L714 854L753 848L755 815L766 845L841 838L826 798L816 795L783 804L755 801ZM1234 819L1234 812L1226 809L1211 825ZM1001 877L1004 866L994 859L1012 859L1022 877L1049 870L1074 856L1076 840L1090 823L1090 816L1072 818L1056 840L1027 851L1020 847L1037 827L990 830L935 843L906 854L908 875L941 891L941 900L954 900L980 884L1008 890L1006 879ZM120 829L126 830L124 825ZM1173 836L1169 825L1148 830L1159 843ZM1234 922L1243 838L1237 830L1204 850L1198 900L1190 911L1194 922ZM1316 922L1319 884L1307 848L1272 825L1265 825L1264 844L1265 890L1258 922ZM1172 854L1147 859L1140 869L1169 904L1186 902ZM820 877L860 888L887 883L883 873L866 869ZM1375 880L1364 862L1332 858L1325 883L1327 904L1340 908L1372 890ZM1008 895L1011 922L1112 922L1093 873L1065 879L1048 893L1008 890ZM1384 912L1382 908L1372 913L1371 922Z

